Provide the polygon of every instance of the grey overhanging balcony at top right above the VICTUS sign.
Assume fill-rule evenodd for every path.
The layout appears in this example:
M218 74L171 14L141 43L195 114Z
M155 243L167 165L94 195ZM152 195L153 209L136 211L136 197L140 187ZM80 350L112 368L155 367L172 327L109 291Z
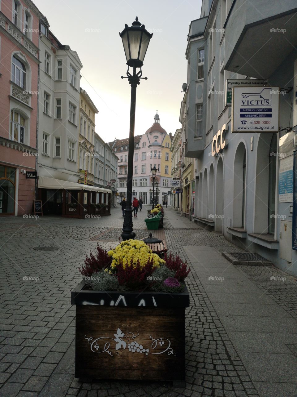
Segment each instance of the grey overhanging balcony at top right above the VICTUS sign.
M268 79L297 42L296 12L296 0L263 0L261 12L259 0L234 0L224 25L225 69Z

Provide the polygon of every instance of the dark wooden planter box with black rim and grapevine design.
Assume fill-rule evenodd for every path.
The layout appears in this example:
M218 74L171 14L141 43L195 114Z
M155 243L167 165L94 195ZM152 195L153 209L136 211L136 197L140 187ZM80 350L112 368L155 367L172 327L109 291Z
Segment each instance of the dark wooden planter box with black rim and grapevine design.
M185 292L71 292L75 377L185 381Z

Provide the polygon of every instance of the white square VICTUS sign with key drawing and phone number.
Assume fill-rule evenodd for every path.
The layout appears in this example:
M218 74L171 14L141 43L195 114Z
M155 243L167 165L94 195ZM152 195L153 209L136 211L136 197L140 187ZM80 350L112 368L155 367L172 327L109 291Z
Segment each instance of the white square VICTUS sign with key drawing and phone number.
M278 132L279 87L233 87L232 132Z

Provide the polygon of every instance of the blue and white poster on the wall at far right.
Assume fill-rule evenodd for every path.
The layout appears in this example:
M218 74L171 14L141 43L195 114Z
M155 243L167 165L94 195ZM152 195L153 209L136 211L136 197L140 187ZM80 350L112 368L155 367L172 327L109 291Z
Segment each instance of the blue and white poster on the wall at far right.
M280 160L278 202L293 202L293 156Z

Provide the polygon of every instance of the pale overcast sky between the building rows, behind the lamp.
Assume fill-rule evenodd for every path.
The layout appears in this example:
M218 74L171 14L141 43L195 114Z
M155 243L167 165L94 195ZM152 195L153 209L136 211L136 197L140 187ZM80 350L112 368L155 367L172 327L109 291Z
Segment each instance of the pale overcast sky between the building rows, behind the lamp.
M135 135L160 123L175 133L181 127L182 84L187 81L185 50L190 21L200 17L201 0L34 0L62 44L75 50L83 64L80 85L99 110L96 132L112 141L129 136L130 86L119 32L136 15L153 33L137 87Z

